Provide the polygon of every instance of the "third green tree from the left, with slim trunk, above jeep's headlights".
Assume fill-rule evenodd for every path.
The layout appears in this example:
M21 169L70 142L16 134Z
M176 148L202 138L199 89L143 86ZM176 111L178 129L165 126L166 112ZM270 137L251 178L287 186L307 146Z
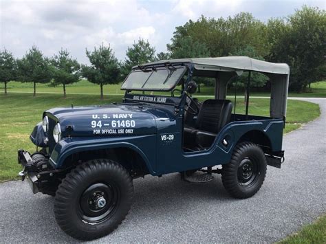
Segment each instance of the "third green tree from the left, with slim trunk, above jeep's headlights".
M58 55L51 60L53 65L53 85L63 85L63 97L66 97L65 86L78 82L80 78L80 65L76 59L69 56L67 50L61 49Z

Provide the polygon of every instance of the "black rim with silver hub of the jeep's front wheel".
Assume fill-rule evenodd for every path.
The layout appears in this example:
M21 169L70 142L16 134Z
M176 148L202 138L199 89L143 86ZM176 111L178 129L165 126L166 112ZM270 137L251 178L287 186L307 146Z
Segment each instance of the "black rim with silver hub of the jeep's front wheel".
M109 219L120 204L120 190L112 183L96 183L80 196L78 215L87 223L101 223Z

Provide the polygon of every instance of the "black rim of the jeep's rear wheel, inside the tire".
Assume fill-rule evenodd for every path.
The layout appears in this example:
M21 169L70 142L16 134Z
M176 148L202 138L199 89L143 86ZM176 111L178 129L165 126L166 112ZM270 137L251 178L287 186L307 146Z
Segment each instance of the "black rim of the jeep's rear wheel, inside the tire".
M256 159L245 157L238 167L238 181L241 186L250 187L259 177L259 164Z

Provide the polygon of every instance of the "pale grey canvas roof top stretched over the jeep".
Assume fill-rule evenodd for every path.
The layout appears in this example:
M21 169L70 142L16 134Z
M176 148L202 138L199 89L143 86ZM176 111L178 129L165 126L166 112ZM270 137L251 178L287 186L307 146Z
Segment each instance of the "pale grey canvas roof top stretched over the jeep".
M227 56L218 58L180 58L146 63L144 66L166 62L193 63L196 69L206 69L212 71L251 70L270 74L290 74L290 67L286 63L270 63L246 56Z

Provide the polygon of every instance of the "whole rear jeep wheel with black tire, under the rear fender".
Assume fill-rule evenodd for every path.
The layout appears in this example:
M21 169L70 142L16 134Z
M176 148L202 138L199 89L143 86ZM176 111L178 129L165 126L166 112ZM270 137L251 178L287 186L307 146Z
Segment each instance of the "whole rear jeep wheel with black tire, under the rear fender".
M263 150L251 142L238 144L222 168L224 188L235 198L252 197L263 185L267 162Z

